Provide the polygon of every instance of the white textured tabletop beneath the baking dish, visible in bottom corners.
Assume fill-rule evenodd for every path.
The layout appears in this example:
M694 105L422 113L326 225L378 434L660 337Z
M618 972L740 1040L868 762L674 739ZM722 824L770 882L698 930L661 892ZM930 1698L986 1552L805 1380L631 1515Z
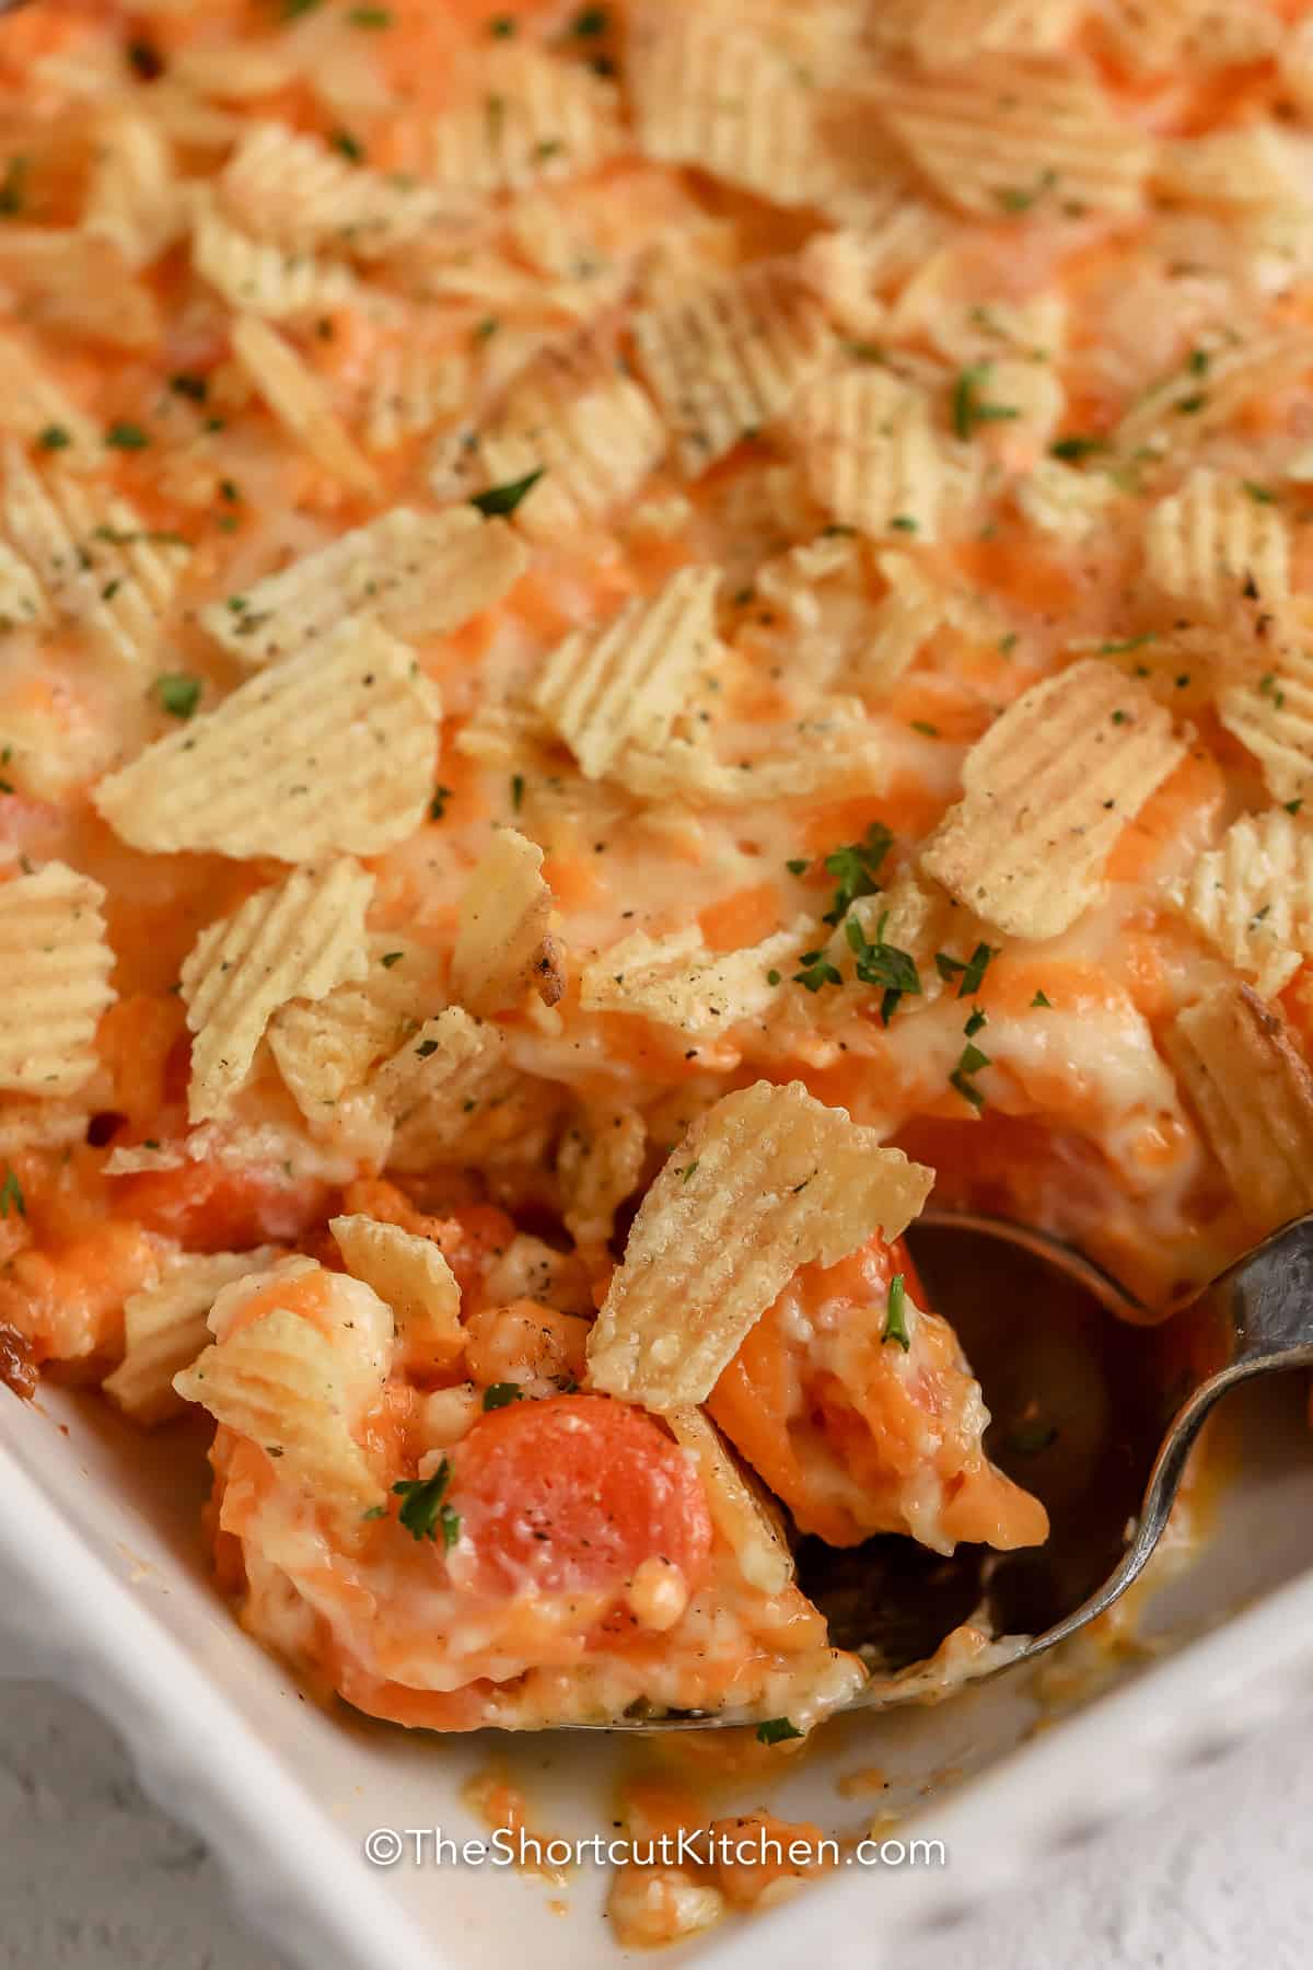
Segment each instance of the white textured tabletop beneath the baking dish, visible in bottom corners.
M970 1960L1303 1970L1311 1826L1313 1720L1299 1718L1191 1771L1169 1803L996 1901L972 1923ZM758 1935L770 1964L770 1927ZM906 1946L900 1970L957 1970L963 1954L963 1937L947 1935ZM106 1726L73 1696L2 1678L0 1966L281 1970L232 1917L201 1842L144 1799Z

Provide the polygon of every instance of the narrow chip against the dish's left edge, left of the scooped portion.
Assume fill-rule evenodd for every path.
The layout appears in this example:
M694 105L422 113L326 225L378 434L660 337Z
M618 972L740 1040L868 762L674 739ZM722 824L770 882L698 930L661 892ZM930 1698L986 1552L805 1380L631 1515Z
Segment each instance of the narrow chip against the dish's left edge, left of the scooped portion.
M126 1349L100 1387L134 1422L152 1426L181 1416L173 1377L191 1367L209 1342L205 1316L215 1294L234 1279L278 1259L276 1245L256 1251L171 1253L154 1286L124 1300Z

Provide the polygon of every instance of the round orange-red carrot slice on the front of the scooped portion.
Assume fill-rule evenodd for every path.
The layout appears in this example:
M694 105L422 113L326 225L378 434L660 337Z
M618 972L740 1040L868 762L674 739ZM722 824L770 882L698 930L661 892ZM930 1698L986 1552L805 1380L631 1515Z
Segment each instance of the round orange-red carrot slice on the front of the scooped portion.
M604 1395L480 1416L455 1454L451 1503L492 1592L620 1592L654 1556L691 1586L711 1548L691 1462L652 1416Z

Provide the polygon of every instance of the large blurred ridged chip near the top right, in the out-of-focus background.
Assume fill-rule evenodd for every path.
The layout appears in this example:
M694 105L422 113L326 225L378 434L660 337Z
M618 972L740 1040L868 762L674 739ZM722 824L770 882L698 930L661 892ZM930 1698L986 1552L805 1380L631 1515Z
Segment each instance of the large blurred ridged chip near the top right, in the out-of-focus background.
M1073 67L982 55L945 73L890 75L878 106L959 211L998 219L1045 201L1140 209L1152 140Z

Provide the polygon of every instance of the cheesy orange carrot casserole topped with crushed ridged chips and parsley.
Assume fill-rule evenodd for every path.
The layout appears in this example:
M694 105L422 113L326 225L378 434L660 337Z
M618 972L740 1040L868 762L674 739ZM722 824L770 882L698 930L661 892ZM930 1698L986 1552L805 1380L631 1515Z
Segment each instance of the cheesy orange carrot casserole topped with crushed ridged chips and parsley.
M254 1637L787 1736L1045 1539L902 1235L1313 1202L1311 325L1299 4L0 20L0 1375Z

